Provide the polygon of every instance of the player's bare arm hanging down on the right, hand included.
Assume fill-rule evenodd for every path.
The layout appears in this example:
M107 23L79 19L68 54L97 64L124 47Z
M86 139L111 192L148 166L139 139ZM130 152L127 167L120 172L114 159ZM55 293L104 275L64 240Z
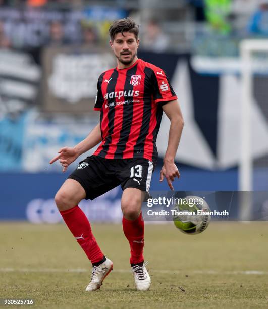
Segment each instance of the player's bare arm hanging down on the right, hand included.
M175 156L180 143L184 121L177 99L168 102L162 108L170 119L170 130L164 164L160 171L160 181L162 182L164 177L166 177L170 189L174 190L172 182L176 177L180 177L179 170L175 164Z

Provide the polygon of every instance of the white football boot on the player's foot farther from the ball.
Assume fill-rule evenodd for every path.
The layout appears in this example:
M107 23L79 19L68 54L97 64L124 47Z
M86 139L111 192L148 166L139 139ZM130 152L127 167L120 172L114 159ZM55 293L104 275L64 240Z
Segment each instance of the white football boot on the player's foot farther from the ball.
M99 266L92 267L91 281L86 287L86 291L96 291L102 285L102 281L113 270L113 262L106 258Z

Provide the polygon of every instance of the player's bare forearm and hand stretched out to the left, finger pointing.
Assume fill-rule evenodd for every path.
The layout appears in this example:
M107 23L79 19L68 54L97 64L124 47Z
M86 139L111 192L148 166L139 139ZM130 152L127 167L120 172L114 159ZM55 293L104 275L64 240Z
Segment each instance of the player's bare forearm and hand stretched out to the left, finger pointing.
M74 162L82 153L90 150L101 141L100 124L98 123L95 128L74 147L63 147L58 153L59 155L53 158L49 163L52 164L59 160L65 172L68 166Z

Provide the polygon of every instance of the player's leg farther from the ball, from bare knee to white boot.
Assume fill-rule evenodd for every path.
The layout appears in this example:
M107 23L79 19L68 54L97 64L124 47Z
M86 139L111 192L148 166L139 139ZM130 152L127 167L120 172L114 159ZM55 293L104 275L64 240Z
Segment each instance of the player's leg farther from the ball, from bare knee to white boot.
M56 205L70 231L92 263L91 281L86 291L100 288L104 278L113 269L113 262L103 255L90 223L78 203L86 197L84 188L76 180L67 179L55 196Z

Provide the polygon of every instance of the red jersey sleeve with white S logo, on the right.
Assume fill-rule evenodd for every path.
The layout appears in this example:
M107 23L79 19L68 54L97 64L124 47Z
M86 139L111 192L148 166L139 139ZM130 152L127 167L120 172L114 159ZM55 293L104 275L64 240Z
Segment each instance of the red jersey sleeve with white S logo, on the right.
M163 104L164 102L177 99L177 95L170 84L169 77L164 70L153 70L152 83L155 103L162 102Z

